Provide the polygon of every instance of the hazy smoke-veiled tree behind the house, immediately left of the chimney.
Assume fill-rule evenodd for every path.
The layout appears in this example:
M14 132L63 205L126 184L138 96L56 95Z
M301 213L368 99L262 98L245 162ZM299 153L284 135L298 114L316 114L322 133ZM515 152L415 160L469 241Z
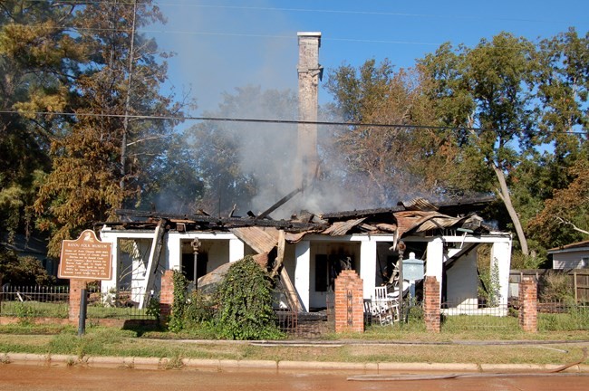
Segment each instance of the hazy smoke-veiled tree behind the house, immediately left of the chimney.
M219 109L205 116L292 120L296 104L292 91L246 86L225 94ZM205 186L199 205L211 213L227 215L234 205L242 213L261 212L294 190L293 125L205 121L187 129L184 138Z

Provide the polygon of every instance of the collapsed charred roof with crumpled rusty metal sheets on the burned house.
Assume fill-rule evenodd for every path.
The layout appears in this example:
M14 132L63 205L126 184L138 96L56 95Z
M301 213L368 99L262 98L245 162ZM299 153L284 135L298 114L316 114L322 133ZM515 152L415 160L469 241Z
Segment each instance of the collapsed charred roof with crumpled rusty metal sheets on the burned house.
M494 197L478 197L432 204L423 198L416 198L389 208L317 215L304 212L292 216L289 220L273 220L267 214L263 218L251 213L247 217L215 217L202 211L198 214L179 215L121 209L117 210L120 222L101 224L122 229L155 229L157 224L164 221L167 230L232 232L241 239L249 237L247 243L253 239L254 242L259 240L262 243L275 243L276 233L280 230L285 231L285 239L291 243L298 242L304 234L395 234L401 238L407 234L425 235L439 230L456 229L482 234L490 229L475 212L482 210L493 200ZM252 238L251 235L261 237Z

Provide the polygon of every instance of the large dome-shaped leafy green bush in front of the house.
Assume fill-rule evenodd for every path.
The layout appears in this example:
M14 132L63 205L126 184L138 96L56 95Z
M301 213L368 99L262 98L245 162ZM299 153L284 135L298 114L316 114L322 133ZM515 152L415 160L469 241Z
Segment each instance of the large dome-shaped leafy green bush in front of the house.
M282 337L272 309L272 285L251 256L231 265L217 290L215 322L225 339Z

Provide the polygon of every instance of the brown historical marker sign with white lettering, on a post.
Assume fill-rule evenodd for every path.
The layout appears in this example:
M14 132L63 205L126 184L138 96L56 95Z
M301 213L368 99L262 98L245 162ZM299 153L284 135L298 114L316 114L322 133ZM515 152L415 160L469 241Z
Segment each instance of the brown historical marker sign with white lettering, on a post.
M98 240L85 230L76 240L64 240L57 276L63 279L111 280L112 243Z

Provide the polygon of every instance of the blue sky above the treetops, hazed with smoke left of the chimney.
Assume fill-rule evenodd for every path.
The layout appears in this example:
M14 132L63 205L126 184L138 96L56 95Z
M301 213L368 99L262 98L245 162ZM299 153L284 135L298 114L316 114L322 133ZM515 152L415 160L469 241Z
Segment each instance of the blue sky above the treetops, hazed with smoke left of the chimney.
M143 33L174 52L169 81L213 112L223 93L259 85L296 90L297 32L321 32L319 62L326 73L343 64L389 59L398 68L435 52L441 43L470 47L502 31L536 41L589 30L587 0L154 0L168 18ZM325 73L325 74L326 74ZM319 100L331 96L320 85Z

